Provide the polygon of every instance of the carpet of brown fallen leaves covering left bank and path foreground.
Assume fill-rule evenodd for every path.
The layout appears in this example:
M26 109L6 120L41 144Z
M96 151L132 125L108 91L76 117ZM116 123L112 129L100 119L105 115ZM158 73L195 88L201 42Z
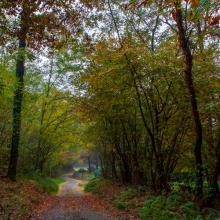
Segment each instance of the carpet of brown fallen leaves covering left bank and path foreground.
M65 213L91 211L111 220L140 219L125 211L115 210L114 206L108 203L120 190L120 187L111 188L105 194L105 199L90 193L84 193L83 196L55 196L43 192L34 181L14 183L8 179L0 179L0 219L42 219L40 216L50 210L57 210L64 216ZM47 219L51 219L50 216Z

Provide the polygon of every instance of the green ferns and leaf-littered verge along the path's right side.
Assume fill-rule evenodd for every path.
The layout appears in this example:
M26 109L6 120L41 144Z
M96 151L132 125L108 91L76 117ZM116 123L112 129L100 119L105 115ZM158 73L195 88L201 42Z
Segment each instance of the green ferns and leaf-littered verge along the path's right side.
M174 187L169 193L155 195L142 185L121 185L104 179L93 179L84 188L113 204L118 210L156 220L213 220L220 218L220 200L212 207L196 202L187 187Z

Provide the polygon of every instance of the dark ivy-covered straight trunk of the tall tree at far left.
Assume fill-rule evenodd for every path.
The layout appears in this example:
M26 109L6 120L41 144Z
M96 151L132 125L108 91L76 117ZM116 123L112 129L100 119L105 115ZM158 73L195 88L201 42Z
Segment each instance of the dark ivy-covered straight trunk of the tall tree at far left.
M22 105L23 88L24 88L25 46L26 45L25 45L25 34L24 34L24 37L19 39L19 54L17 58L16 73L15 73L17 80L18 80L18 85L17 85L17 89L14 94L11 152L10 152L10 162L9 162L8 173L7 173L7 176L12 181L16 181L18 147L19 147L19 141L20 141L21 105Z

